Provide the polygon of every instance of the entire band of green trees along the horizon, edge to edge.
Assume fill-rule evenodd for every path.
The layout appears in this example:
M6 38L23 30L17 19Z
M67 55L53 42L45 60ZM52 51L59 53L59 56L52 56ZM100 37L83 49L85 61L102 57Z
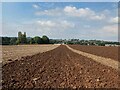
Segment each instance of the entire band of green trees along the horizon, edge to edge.
M2 45L16 45L16 44L79 44L79 45L97 45L105 46L109 45L120 45L120 42L103 41L103 40L79 40L79 39L49 39L47 36L35 36L34 38L26 37L26 32L22 34L18 32L17 37L0 37L0 44Z

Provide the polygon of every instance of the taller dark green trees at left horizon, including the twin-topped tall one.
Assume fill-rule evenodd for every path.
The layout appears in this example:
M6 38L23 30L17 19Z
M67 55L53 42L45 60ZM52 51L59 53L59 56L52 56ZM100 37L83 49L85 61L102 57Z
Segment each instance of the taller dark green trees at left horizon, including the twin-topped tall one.
M49 38L44 35L42 37L35 36L33 38L26 37L26 32L22 34L18 32L18 37L2 37L2 45L19 45L19 44L49 44Z

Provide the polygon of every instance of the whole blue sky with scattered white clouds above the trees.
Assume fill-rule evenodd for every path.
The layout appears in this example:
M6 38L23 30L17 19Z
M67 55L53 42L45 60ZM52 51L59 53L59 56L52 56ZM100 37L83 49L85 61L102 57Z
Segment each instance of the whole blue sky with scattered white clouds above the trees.
M3 2L2 36L118 40L117 2Z

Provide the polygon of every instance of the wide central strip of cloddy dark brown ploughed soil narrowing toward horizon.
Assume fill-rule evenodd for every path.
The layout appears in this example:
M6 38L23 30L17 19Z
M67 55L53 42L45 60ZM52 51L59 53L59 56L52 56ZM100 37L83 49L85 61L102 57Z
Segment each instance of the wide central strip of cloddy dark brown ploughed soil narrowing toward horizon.
M118 72L66 46L3 66L3 88L117 88Z

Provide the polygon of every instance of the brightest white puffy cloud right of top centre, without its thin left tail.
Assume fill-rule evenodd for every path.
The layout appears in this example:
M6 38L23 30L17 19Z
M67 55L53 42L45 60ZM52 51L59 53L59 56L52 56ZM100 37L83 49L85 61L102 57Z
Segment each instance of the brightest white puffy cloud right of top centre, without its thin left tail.
M98 15L96 12L91 10L90 8L79 8L66 6L64 8L64 12L67 15L76 16L76 17L86 17L91 20L103 20L105 18L104 14Z

